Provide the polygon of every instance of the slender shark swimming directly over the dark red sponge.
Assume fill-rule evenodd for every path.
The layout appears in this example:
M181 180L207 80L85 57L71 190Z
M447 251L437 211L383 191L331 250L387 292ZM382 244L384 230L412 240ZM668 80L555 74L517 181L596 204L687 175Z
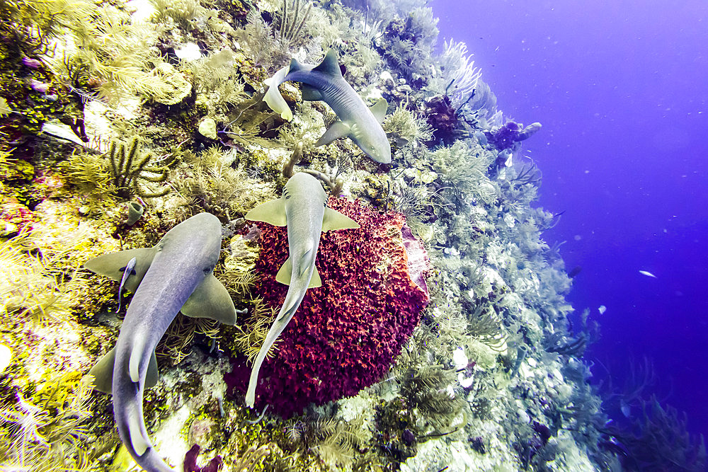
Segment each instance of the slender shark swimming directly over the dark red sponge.
M327 208L326 202L327 195L316 178L308 173L296 173L285 184L282 197L258 205L246 214L246 219L251 221L265 221L275 226L287 225L287 245L290 251L289 257L275 275L275 280L288 285L287 294L253 363L246 392L246 405L249 408L253 408L256 401L258 373L270 346L295 315L307 289L322 284L315 267L321 232L359 227L353 219Z

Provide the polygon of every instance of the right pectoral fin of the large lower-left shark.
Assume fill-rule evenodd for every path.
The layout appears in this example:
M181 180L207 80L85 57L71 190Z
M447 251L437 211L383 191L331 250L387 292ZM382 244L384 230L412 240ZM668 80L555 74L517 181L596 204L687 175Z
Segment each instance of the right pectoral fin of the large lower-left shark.
M236 307L224 284L213 274L204 277L182 306L182 313L192 318L212 318L227 325L236 323Z

